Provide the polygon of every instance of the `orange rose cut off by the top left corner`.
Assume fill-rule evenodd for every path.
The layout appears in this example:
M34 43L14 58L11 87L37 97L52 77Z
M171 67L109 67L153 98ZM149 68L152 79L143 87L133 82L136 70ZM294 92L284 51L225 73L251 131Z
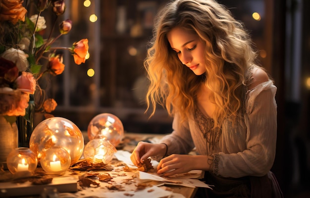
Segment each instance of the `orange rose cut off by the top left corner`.
M18 20L25 21L26 8L22 5L23 0L1 0L0 21L11 21L16 24Z

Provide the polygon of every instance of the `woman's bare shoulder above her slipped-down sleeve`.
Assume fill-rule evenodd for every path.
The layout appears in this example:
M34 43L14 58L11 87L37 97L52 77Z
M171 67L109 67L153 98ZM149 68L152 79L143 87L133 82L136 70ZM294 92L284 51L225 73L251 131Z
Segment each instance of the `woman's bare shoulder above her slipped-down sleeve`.
M258 66L253 66L249 69L250 80L248 80L247 87L251 90L261 83L269 81L267 72Z

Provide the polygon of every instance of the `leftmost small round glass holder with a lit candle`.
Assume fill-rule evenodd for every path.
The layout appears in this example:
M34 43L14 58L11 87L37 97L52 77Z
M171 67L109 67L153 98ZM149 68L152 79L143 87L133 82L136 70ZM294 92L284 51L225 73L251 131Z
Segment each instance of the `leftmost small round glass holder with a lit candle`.
M15 148L6 158L8 170L12 174L33 174L38 165L37 155L29 148Z

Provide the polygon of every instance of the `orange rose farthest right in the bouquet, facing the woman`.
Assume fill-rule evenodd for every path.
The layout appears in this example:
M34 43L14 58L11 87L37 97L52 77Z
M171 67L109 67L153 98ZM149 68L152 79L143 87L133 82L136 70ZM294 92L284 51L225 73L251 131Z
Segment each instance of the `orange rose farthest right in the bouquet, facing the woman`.
M85 56L88 54L88 48L88 39L82 39L73 44L73 57L76 64L80 65L82 62L85 63Z

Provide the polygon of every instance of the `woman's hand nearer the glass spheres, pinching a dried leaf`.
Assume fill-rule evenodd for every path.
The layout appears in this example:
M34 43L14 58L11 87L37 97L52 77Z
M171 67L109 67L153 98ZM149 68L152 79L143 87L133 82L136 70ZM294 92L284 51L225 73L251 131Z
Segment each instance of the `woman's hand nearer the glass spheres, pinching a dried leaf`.
M130 155L131 161L136 165L143 163L144 160L150 156L164 155L166 152L166 146L164 144L152 144L146 142L139 142L137 147Z

